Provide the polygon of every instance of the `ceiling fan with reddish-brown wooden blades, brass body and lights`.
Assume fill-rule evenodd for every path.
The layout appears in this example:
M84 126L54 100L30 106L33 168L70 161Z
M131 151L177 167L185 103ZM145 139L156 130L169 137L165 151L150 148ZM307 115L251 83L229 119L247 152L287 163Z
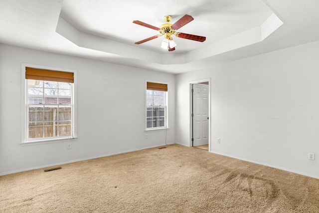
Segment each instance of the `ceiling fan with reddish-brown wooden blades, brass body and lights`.
M159 35L154 35L152 37L146 38L144 40L135 42L135 44L141 44L149 40L153 40L155 38L158 38L162 35L164 35L164 40L161 43L161 47L164 49L168 49L168 51L173 51L175 50L176 43L173 41L171 35L175 35L179 38L186 38L194 41L200 41L203 42L206 40L206 37L204 36L199 36L199 35L192 35L192 34L187 34L187 33L182 33L182 32L176 32L177 29L180 27L184 26L185 24L189 23L190 21L194 20L194 18L190 15L185 14L183 17L181 17L179 20L177 20L174 24L169 23L171 20L170 15L165 15L164 20L166 23L160 25L160 27L156 27L147 23L144 23L139 20L133 21L133 23L149 27L151 29L159 30L160 34Z

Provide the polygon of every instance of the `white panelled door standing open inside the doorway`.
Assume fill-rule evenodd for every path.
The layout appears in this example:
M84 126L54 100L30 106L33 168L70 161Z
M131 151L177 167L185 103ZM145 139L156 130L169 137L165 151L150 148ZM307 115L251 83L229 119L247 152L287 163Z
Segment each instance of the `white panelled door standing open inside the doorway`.
M208 85L193 84L193 146L208 144Z

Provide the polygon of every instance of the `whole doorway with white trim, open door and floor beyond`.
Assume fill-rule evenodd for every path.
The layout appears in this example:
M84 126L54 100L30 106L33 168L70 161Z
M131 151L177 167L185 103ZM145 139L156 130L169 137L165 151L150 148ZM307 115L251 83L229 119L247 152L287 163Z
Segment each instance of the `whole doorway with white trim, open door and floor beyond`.
M190 146L210 151L210 79L190 82Z

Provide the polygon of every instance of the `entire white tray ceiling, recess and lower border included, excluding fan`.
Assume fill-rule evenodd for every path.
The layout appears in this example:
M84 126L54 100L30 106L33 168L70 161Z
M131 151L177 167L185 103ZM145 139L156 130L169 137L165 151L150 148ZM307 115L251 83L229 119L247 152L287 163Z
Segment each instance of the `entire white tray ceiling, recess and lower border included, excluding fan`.
M182 73L319 40L318 0L1 0L0 43L145 69ZM194 20L160 48L159 27L184 14ZM274 32L273 32L274 31Z

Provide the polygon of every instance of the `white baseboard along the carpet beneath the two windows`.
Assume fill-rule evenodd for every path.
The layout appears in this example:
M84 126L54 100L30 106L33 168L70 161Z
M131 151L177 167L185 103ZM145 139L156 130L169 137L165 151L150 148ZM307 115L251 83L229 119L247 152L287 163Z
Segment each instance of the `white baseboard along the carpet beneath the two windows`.
M1 172L0 176L10 175L10 174L19 173L19 172L26 172L26 171L30 171L30 170L37 170L37 169L42 169L42 168L47 168L47 167L53 167L53 166L58 166L58 165L63 165L63 164L70 164L70 163L79 162L79 161L87 161L87 160L92 160L92 159L96 159L96 158L103 158L103 157L108 157L108 156L112 156L112 155L119 155L119 154L128 153L128 152L135 152L135 151L140 151L140 150L145 150L145 149L151 149L151 148L161 147L161 146L165 146L165 145L167 145L167 144L160 144L160 145L144 147L144 148L140 148L140 149L133 149L133 150L127 150L127 151L123 151L123 152L109 153L107 155L92 156L92 157L88 157L88 158L81 158L81 159L76 159L76 160L71 160L71 161L58 162L58 163L54 163L54 164L29 167L29 168L20 169L20 170L13 170L13 171L9 171L9 172Z

